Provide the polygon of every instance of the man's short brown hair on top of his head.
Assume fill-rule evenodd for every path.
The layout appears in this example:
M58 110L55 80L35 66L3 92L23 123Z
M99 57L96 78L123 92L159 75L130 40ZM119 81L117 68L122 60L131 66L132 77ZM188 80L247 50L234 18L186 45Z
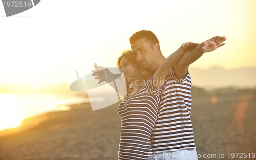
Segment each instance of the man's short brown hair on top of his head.
M147 31L147 30L141 30L141 31L138 31L138 32L134 33L129 38L130 44L132 44L136 40L139 40L139 39L142 39L142 38L146 38L148 41L152 42L153 45L155 45L156 43L159 44L157 36L153 32Z

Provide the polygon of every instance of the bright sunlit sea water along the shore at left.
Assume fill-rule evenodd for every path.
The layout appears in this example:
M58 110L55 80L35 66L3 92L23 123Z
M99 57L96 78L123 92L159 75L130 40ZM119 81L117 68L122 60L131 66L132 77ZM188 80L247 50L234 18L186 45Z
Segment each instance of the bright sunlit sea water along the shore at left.
M49 111L69 110L69 105L90 102L74 94L0 94L0 130L13 128L29 117Z

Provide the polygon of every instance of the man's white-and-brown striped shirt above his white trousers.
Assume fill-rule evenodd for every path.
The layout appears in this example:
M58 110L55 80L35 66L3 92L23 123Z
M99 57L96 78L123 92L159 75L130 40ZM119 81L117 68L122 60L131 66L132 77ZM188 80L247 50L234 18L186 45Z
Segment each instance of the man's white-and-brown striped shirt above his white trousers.
M158 118L151 135L153 153L196 148L190 120L191 79L179 79L170 68L163 84Z

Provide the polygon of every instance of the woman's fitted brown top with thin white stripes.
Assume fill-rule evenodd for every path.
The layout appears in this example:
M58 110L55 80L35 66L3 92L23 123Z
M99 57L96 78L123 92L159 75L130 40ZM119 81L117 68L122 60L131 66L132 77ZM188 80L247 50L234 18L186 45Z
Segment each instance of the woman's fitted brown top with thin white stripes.
M161 87L153 90L152 77L118 106L121 117L121 139L118 159L154 159L150 135L157 119Z

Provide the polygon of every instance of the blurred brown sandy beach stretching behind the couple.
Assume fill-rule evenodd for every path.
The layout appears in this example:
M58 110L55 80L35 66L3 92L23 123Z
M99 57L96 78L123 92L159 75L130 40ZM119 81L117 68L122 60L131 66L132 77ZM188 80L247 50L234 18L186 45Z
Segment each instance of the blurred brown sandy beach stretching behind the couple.
M251 157L256 153L255 92L192 96L199 159L256 159ZM0 160L117 159L121 127L117 106L92 111L90 103L82 103L27 119L18 128L0 132ZM232 153L247 157L232 158Z

